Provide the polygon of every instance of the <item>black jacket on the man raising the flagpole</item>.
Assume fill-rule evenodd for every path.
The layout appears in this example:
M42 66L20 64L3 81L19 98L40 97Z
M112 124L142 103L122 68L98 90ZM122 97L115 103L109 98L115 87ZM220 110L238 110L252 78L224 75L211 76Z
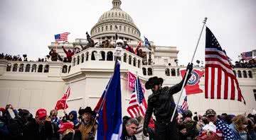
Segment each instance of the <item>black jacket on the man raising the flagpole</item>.
M191 74L188 74L186 83L191 77ZM182 84L185 78L182 79L180 83L177 83L172 87L160 88L159 91L153 92L149 95L148 107L146 109L146 115L144 119L144 127L147 127L152 113L156 116L156 121L168 122L171 120L171 115L173 115L175 109L175 102L173 94L181 91ZM185 84L186 85L186 84ZM174 118L178 116L178 112L175 113Z

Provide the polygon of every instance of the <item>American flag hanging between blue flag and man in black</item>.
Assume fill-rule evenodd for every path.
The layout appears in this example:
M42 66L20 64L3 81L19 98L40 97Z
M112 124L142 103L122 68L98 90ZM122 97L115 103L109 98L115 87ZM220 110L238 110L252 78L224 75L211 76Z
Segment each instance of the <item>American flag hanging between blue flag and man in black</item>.
M127 112L131 117L136 117L137 115L142 115L144 117L146 107L147 105L143 95L142 85L139 81L139 78L137 78L134 86L134 91L132 92L131 99L129 100Z

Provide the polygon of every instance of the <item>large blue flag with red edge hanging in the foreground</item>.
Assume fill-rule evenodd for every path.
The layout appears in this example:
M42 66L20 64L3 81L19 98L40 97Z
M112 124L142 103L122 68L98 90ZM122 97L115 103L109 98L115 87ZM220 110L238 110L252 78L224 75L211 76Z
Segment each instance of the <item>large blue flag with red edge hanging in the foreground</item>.
M122 103L120 85L120 64L117 62L110 85L105 92L95 139L121 139Z

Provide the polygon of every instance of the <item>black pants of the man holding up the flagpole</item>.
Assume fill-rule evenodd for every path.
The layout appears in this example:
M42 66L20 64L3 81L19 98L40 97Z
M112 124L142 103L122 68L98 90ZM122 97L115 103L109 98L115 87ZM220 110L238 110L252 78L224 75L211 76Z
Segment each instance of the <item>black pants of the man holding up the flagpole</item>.
M154 140L178 140L178 122L156 121Z

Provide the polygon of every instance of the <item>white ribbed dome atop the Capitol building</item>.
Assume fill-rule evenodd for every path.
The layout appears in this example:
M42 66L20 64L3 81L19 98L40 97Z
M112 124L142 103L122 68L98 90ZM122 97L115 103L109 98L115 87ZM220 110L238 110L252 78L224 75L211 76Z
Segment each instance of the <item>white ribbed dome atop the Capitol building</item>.
M118 39L139 41L140 31L134 24L132 17L120 8L120 0L112 1L113 7L100 16L99 21L91 30L92 39L115 40L115 33L118 33Z

